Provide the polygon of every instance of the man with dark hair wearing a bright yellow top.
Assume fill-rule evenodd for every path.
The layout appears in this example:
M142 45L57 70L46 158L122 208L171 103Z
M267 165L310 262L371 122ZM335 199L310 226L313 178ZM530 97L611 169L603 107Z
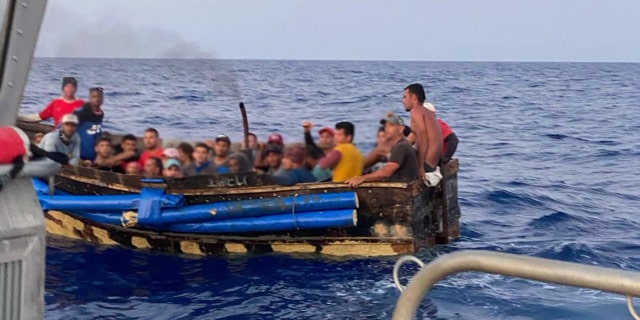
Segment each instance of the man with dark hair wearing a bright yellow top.
M333 169L333 182L344 182L361 175L364 170L364 157L353 144L354 135L353 123L336 123L334 140L337 145L318 162L321 169Z

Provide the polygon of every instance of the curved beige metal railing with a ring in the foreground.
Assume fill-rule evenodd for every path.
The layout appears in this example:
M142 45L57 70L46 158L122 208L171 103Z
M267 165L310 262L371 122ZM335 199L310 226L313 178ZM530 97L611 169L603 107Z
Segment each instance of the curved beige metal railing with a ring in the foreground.
M640 296L640 272L501 252L459 251L421 265L422 268L405 289L398 280L398 271L408 261L422 263L413 256L402 257L396 262L394 280L402 295L396 304L393 319L414 319L420 302L433 285L449 275L468 271L619 293L627 297L631 315L640 319L632 302L632 297Z

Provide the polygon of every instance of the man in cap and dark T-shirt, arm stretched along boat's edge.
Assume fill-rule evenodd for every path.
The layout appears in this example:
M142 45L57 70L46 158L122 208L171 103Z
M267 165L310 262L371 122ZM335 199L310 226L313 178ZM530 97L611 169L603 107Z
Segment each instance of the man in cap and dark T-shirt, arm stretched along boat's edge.
M418 158L413 146L404 138L404 121L400 116L391 114L383 119L383 123L387 140L392 144L389 160L376 172L346 180L350 187L358 187L363 182L418 179Z

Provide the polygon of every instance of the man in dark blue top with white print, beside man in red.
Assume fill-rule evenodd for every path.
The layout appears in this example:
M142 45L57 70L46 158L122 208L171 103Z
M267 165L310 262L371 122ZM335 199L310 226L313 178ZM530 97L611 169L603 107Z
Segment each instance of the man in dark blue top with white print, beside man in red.
M85 103L81 109L73 114L78 117L78 135L80 136L80 159L92 161L96 158L95 146L98 138L102 134L102 102L104 92L102 88L94 87L89 89L89 102Z

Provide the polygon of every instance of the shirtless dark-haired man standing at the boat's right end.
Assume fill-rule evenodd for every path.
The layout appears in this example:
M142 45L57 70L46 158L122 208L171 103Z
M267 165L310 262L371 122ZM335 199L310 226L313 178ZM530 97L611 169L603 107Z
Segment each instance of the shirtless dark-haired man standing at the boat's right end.
M414 83L404 88L402 104L405 110L411 112L411 129L416 137L418 147L418 176L425 181L425 172L436 170L442 157L442 133L436 121L436 114L424 108L424 88Z

